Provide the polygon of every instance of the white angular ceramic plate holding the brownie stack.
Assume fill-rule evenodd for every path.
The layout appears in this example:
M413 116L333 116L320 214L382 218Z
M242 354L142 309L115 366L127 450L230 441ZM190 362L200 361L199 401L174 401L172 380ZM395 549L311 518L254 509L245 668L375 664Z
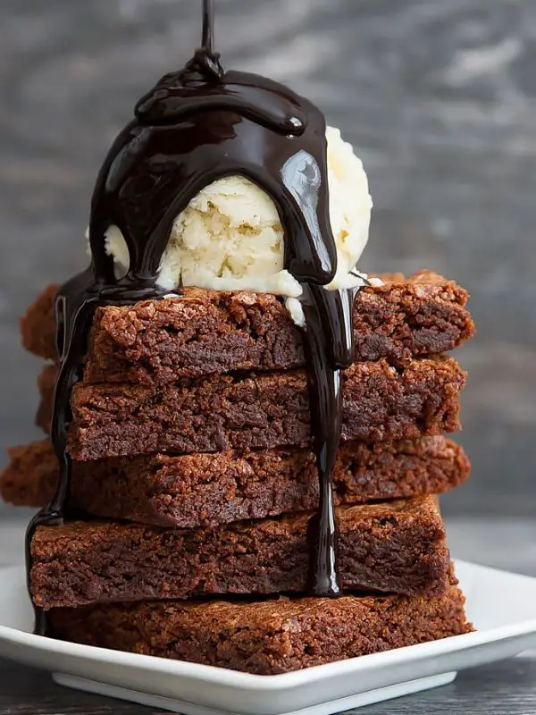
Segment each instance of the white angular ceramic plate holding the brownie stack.
M536 645L536 578L456 562L476 633L254 676L54 641L31 634L24 569L0 569L0 655L49 670L57 683L185 715L328 715L445 685L456 670Z

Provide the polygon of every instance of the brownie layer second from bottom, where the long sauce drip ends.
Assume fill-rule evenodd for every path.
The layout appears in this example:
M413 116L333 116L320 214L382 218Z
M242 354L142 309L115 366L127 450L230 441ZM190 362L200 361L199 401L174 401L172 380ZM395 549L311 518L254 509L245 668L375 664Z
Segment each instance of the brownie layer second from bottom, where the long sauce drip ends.
M30 591L46 610L215 593L299 593L313 512L205 529L116 522L38 526ZM434 497L338 507L343 587L439 595L450 559Z

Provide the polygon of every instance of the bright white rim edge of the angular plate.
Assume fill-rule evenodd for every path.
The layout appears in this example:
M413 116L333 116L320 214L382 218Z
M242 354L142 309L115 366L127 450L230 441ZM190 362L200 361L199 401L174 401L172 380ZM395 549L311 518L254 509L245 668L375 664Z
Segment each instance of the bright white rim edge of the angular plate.
M476 569L481 573L486 571L501 576L515 576L520 581L526 581L536 585L536 577L516 574L498 568L490 568L462 559L454 559L455 568L461 566ZM9 574L20 575L24 571L23 566L0 567L0 579ZM324 680L329 680L335 675L344 677L350 673L364 675L378 667L389 668L398 664L418 663L428 658L433 658L446 653L466 651L477 648L480 645L490 644L497 641L507 641L522 635L536 633L536 616L525 619L514 624L498 626L485 630L474 631L473 633L452 635L438 641L409 645L404 648L396 648L390 651L370 653L368 655L337 660L331 663L312 666L306 669L294 670L289 673L278 675L256 675L254 673L244 673L239 670L220 668L217 666L204 665L201 663L191 663L187 660L168 660L158 658L153 655L142 653L130 653L123 651L113 651L107 648L99 648L94 645L73 644L68 641L56 641L42 635L35 635L22 631L19 628L0 625L0 641L21 647L32 649L38 652L58 652L58 644L61 644L61 654L66 657L73 657L77 660L99 660L101 663L110 665L121 665L130 669L158 670L163 675L172 677L183 677L195 680L198 683L205 682L211 686L226 686L239 688L244 691L255 691L257 693L275 693L280 690L298 688L314 681L315 684ZM55 672L54 668L48 669Z

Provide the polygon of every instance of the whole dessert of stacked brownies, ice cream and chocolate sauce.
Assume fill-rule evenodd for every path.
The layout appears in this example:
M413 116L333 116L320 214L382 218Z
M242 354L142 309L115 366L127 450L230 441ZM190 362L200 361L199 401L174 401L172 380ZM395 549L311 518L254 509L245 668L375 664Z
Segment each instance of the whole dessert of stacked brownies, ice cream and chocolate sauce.
M2 477L57 479L36 630L261 673L463 634L435 494L468 474L443 436L467 294L357 270L361 162L309 100L225 71L204 11L105 158L88 269L22 321L52 361L49 441Z

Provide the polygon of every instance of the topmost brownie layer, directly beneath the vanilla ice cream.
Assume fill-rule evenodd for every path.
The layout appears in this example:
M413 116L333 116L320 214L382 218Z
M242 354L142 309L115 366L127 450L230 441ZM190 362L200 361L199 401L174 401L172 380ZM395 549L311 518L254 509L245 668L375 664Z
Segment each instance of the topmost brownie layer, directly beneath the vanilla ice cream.
M385 285L357 293L356 361L394 365L456 348L474 332L467 292L436 273L384 275ZM56 286L46 289L21 323L23 343L54 360ZM302 333L276 296L187 288L176 299L96 310L85 381L172 383L237 370L305 364Z

